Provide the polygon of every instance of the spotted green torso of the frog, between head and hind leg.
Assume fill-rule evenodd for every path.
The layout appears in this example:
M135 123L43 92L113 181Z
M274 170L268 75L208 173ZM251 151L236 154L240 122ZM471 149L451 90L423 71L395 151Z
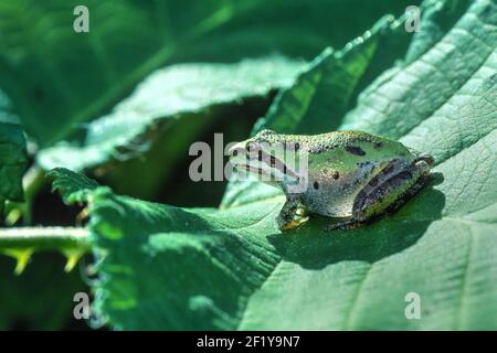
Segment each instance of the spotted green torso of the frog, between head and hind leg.
M358 192L394 159L411 158L402 143L361 131L336 131L317 136L319 145L306 141L309 153L309 186L304 195L316 213L351 215Z

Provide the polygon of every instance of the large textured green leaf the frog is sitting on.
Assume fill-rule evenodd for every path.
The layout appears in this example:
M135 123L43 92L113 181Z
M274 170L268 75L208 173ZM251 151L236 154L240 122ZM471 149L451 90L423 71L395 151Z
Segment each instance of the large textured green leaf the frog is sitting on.
M124 329L497 329L496 25L496 2L475 1L339 126L436 160L415 197L369 226L326 233L314 217L281 233L284 199L268 186L223 210L92 191L107 254L96 308ZM410 292L420 320L404 314Z

